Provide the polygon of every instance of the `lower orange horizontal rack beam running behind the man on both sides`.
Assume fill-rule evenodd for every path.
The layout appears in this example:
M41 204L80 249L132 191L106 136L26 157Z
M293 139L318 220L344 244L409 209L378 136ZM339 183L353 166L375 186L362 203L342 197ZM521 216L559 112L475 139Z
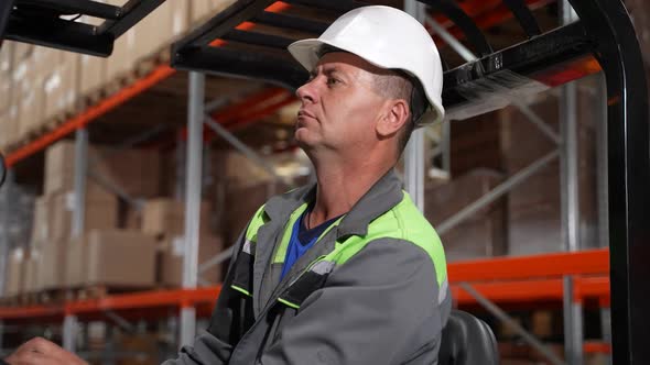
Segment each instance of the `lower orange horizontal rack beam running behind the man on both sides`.
M554 261L555 265L549 266L549 261ZM597 301L608 307L608 273L607 250L477 259L448 265L452 294L459 308L474 308L486 300L506 308L522 302L559 305L564 294L563 275L577 277L572 299L576 309L581 309L585 301ZM66 316L74 316L80 321L110 321L115 316L126 320L155 320L182 308L196 308L198 317L207 318L219 290L220 286L159 290L62 305L0 308L0 320L9 325L34 321L40 324L61 323ZM585 353L610 351L609 344L604 342L581 345Z

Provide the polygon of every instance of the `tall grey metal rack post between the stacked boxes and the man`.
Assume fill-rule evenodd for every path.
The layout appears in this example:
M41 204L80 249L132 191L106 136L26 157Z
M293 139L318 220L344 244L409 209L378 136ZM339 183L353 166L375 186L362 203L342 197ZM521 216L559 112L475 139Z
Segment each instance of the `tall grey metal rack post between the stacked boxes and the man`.
M187 159L185 180L185 250L183 287L195 288L198 272L198 230L201 221L201 170L203 157L205 75L189 73L187 115ZM194 307L181 309L181 345L191 344L196 333Z

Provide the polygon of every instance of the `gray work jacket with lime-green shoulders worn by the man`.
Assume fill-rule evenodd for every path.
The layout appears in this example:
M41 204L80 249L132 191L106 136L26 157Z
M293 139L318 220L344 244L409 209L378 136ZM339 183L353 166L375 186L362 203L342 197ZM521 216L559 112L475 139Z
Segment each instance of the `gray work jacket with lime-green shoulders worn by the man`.
M443 257L433 257L434 265L431 247L440 239L400 179L392 170L383 176L280 281L282 263L273 261L279 242L291 230L292 213L314 197L315 185L306 186L260 209L264 223L254 232L254 258L241 264L242 248L251 243L245 231L208 330L164 364L437 364L451 311L444 253L441 246ZM426 242L415 244L410 232L425 232ZM361 248L303 292L300 306L278 301L311 264L350 237L365 240ZM243 280L250 279L250 296L232 289L237 266L245 265L250 265ZM436 266L443 267L436 272Z

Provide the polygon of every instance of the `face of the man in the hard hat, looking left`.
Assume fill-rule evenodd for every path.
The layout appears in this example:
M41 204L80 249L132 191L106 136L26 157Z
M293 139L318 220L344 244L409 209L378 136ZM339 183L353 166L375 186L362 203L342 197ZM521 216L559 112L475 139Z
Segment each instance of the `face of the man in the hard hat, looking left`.
M302 101L295 139L310 151L366 151L377 141L375 122L386 99L375 89L375 66L349 53L324 55L310 81L297 89Z

